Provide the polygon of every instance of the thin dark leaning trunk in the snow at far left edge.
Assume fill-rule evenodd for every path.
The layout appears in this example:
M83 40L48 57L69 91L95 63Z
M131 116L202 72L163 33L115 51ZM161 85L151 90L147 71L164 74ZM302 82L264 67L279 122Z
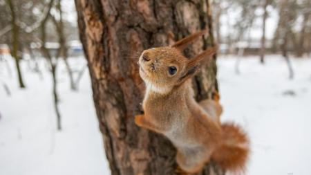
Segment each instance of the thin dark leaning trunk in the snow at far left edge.
M12 0L6 0L12 17L12 50L11 55L15 59L15 65L17 68L17 77L19 79L19 87L25 88L25 84L23 83L23 77L21 75L21 67L19 66L19 56L17 55L18 49L19 49L19 26L17 26L17 15L15 12L15 6L12 2Z

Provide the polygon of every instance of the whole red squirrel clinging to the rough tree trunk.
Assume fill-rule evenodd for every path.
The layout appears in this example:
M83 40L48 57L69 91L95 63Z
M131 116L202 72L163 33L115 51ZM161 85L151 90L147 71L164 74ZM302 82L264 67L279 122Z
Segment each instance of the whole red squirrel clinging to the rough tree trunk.
M135 123L167 136L177 149L176 161L184 172L199 172L214 160L226 171L238 173L245 169L249 155L246 134L236 125L221 124L218 100L196 102L191 86L191 77L217 48L207 48L191 59L182 55L189 43L206 32L142 52L138 64L147 89L144 114L135 116Z

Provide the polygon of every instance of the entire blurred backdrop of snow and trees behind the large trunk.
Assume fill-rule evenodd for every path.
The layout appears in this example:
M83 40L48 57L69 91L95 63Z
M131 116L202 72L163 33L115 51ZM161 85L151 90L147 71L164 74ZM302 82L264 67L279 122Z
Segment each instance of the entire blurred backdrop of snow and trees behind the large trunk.
M310 151L296 151L311 146L311 1L214 0L211 12L224 120L254 138L247 174L267 161L310 173ZM109 174L90 81L74 1L0 0L0 174Z

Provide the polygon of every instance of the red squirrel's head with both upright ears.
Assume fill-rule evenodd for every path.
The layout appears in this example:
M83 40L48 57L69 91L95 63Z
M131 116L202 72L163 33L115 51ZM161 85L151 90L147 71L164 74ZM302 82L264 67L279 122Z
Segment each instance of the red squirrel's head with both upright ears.
M156 93L168 93L189 77L194 76L202 60L216 53L216 47L208 48L191 59L182 55L182 50L206 32L203 30L189 35L173 46L144 50L138 63L140 65L140 77L146 83L147 88Z

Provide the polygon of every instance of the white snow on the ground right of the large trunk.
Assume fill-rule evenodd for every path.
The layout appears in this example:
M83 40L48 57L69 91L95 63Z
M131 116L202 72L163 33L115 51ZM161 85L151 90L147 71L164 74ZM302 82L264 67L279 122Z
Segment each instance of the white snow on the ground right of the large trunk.
M223 120L243 126L252 142L245 174L310 174L311 59L292 59L294 80L279 56L265 65L258 57L242 59L241 75L235 61L218 59L218 81Z

